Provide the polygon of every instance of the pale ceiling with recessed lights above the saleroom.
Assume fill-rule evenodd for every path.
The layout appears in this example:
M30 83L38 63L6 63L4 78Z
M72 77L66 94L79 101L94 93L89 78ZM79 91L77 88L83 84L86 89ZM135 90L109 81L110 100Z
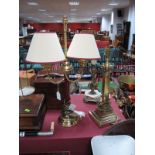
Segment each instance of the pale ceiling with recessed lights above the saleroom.
M71 6L70 1L79 5ZM97 21L114 8L125 8L130 0L19 0L19 17L36 23L62 22L67 16L69 22ZM31 2L33 5L28 5ZM118 5L109 5L117 3Z

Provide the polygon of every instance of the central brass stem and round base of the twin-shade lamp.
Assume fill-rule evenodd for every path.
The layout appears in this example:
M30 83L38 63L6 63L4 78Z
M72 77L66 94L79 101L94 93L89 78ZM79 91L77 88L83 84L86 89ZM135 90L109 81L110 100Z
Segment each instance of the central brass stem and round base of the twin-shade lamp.
M64 53L66 60L62 64L62 70L64 74L68 74L72 70L72 66L70 65L69 61L67 60L67 17L63 17L63 26L64 26ZM66 79L66 76L64 76L64 87L65 87L65 95L64 95L64 104L62 108L61 115L59 117L59 123L63 127L71 127L74 126L78 123L80 120L79 115L74 113L72 110L69 109L70 106L70 91L69 91L69 86L70 83Z

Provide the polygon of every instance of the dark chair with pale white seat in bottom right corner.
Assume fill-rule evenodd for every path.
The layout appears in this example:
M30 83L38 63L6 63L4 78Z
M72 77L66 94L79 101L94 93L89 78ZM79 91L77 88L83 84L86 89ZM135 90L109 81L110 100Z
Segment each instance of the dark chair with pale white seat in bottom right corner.
M93 155L134 155L135 120L113 125L103 135L91 139Z

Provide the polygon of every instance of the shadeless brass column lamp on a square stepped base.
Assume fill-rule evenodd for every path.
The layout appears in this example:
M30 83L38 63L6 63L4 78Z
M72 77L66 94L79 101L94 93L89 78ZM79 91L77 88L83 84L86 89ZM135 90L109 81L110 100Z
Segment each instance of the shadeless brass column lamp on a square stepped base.
M96 122L99 127L105 124L114 123L117 120L116 114L113 112L110 100L109 100L109 82L110 82L110 70L109 63L110 49L105 49L105 64L103 65L104 76L102 86L102 99L98 101L97 108L94 111L89 111L90 116Z

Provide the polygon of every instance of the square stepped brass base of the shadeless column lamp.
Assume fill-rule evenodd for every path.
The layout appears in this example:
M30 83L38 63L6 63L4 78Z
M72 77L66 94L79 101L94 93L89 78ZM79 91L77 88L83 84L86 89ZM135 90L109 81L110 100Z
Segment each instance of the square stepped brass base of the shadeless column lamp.
M108 109L108 110L107 110ZM111 108L106 107L103 111L96 109L94 111L89 111L90 116L93 118L98 127L103 127L106 124L113 124L118 120L117 115L110 110Z

